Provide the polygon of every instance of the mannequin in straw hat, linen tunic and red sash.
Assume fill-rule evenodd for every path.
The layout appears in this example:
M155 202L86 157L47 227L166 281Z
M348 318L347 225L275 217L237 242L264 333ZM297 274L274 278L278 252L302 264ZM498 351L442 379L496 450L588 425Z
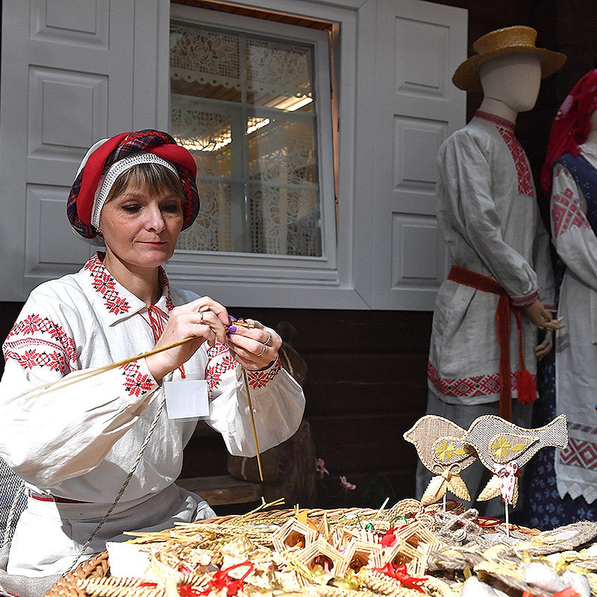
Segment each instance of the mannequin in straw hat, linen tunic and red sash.
M438 224L453 267L433 313L427 414L464 427L482 414L531 426L537 328L554 330L549 235L541 223L533 178L514 134L519 112L530 110L541 78L565 57L536 48L531 27L507 27L479 38L477 52L454 73L484 99L473 119L438 152ZM503 515L498 500L475 502L489 471L481 463L461 473L485 515ZM417 468L417 495L430 473Z

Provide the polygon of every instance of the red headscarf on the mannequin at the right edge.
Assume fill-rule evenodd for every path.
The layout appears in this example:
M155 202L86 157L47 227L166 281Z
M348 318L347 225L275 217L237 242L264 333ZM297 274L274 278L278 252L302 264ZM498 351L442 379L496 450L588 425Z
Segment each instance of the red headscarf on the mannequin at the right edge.
M597 109L597 69L589 70L574 85L553 119L552 132L547 143L547 155L541 168L541 188L549 198L552 192L553 162L564 153L575 158L580 145L591 130L590 117Z

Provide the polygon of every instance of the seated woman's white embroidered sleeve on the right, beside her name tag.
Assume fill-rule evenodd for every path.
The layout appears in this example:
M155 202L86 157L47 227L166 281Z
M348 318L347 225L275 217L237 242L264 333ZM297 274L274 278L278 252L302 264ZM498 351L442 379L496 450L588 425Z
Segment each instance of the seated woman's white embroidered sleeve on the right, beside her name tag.
M208 423L224 438L235 456L255 456L242 367L227 346L216 344L208 350L207 384L210 396ZM290 438L300 425L304 410L303 390L276 360L264 371L247 371L260 451Z

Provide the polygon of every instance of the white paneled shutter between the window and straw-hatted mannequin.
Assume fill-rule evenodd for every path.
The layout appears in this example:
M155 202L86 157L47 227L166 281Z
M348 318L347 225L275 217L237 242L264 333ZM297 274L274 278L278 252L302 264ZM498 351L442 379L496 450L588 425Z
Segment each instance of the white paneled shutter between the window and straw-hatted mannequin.
M466 58L466 10L378 0L373 307L433 310L447 273L435 208L436 155L466 119L451 76Z

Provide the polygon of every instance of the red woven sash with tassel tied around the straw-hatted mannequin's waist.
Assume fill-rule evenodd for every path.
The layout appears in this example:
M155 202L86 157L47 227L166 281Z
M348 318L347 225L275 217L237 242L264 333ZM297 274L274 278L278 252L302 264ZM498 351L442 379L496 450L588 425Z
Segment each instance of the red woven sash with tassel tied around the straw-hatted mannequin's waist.
M518 362L517 374L518 401L533 402L536 398L533 378L524 367L522 356L522 318L521 312L512 307L508 293L494 280L473 272L464 267L453 265L448 279L481 290L485 293L497 294L500 297L496 309L497 340L500 346L500 417L512 420L512 389L510 387L510 312L516 318L518 328ZM529 386L529 383L531 386Z

